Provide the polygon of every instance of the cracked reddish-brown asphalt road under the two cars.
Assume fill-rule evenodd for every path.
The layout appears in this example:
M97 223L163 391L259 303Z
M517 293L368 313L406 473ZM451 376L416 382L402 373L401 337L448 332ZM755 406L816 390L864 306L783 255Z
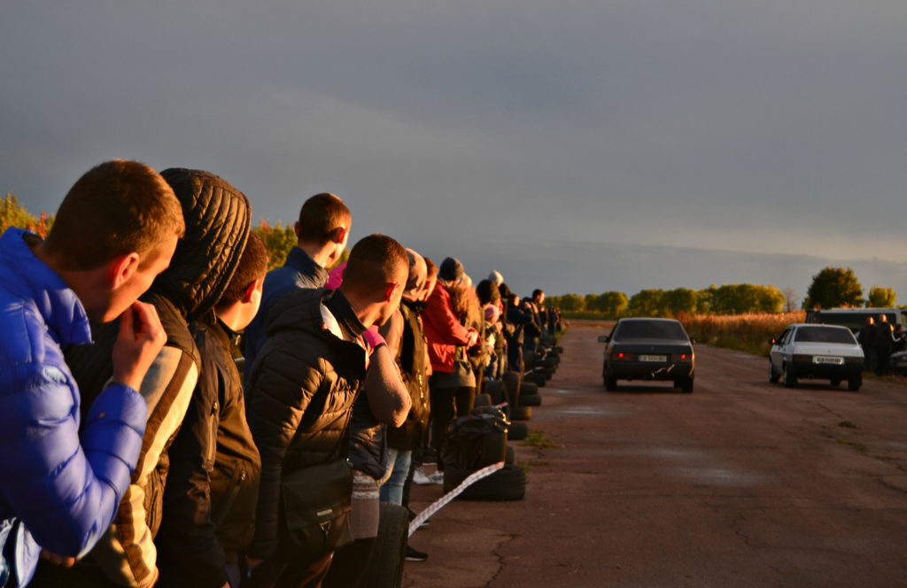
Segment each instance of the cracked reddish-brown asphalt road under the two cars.
M907 586L907 387L789 389L697 345L692 394L610 393L603 332L574 324L541 388L528 425L558 447L512 443L525 499L446 506L405 586Z

